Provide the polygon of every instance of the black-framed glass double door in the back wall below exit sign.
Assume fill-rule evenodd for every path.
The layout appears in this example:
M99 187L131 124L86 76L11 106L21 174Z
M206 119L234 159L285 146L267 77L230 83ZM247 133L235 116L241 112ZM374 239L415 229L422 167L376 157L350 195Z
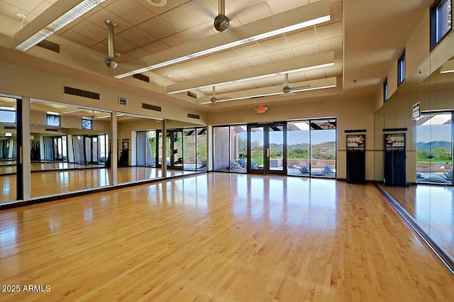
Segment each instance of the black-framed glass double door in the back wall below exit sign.
M287 174L287 128L285 123L249 125L248 172Z

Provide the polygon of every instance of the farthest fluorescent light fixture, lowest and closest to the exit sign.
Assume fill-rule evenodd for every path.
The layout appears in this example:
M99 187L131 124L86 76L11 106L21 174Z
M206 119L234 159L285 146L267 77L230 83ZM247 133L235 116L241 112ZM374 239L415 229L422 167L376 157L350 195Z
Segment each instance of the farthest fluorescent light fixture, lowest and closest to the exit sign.
M292 89L292 92L290 94L292 94L294 92L301 92L301 91L311 91L311 90L318 90L318 89L334 88L337 86L336 82L337 82L336 77L329 77L326 79L314 79L311 81L290 84L290 86L292 86L292 85L301 86L302 84L307 84L309 86L307 88ZM279 90L277 90L277 89L279 89ZM250 92L252 92L252 94L250 94L248 96L237 96L238 94L243 94L244 92L247 92L247 91L236 91L236 92L232 92L232 93L218 94L218 95L216 95L216 97L218 98L218 100L216 101L216 104L222 103L225 101L255 99L255 98L260 98L262 96L285 95L284 91L282 91L281 86L272 86L272 87L265 87L265 88L259 88L259 89L251 89ZM260 92L262 92L262 93L260 93ZM231 94L232 97L229 97L228 94ZM202 105L212 104L211 96L206 96L204 99L201 99L199 104L202 104Z

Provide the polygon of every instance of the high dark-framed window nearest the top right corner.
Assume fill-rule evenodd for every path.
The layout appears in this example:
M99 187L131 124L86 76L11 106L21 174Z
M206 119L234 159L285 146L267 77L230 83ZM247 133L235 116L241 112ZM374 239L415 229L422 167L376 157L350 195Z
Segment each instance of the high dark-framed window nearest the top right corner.
M452 0L436 0L431 6L431 48L452 28Z

